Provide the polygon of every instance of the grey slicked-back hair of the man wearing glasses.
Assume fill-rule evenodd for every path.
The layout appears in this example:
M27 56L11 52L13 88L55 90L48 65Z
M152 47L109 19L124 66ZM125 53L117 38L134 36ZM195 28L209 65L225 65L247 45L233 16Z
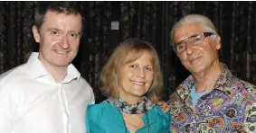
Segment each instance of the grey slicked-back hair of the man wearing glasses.
M176 28L182 27L185 24L189 23L198 23L205 31L213 32L215 35L218 35L217 30L213 22L206 16L201 14L188 14L185 17L181 18L178 22L175 22L175 25L171 31L171 45L174 46L174 30ZM216 36L213 36L212 40L216 39Z

